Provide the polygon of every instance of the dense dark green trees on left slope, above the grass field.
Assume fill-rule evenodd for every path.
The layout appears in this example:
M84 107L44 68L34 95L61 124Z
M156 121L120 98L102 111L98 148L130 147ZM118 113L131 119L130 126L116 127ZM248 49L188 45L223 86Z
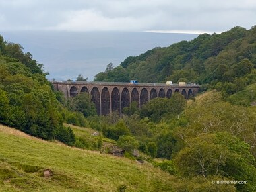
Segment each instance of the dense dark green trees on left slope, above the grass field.
M73 131L63 126L56 95L45 76L32 54L0 36L0 123L73 145Z

